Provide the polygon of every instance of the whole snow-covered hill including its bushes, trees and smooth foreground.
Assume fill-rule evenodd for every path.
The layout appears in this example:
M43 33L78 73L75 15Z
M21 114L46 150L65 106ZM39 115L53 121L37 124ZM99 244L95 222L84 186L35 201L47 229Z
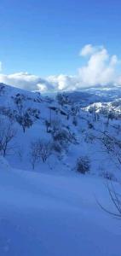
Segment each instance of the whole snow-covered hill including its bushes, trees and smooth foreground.
M0 256L120 256L99 206L117 212L108 186L121 194L120 96L96 93L0 84Z

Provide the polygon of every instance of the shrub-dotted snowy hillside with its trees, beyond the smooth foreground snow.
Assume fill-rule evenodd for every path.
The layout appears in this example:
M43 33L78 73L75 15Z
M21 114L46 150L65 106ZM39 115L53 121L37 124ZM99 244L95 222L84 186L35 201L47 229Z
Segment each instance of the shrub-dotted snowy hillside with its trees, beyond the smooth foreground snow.
M0 84L0 138L7 127L14 133L5 154L2 149L1 154L15 168L19 166L24 170L32 170L34 165L35 172L69 174L76 172L80 157L88 157L91 174L119 180L120 150L107 150L111 142L108 141L106 145L105 141L107 136L110 140L113 137L120 141L120 119L109 119L108 115L103 115L100 111L99 114L94 109L112 106L120 101L99 102L84 108L81 104L83 100L82 96L80 102L72 102L66 94L52 99L38 92L27 92ZM93 111L90 111L92 108ZM120 108L119 103L116 108ZM113 108L113 113L116 113L116 108ZM44 153L45 148L48 149L49 157L45 161L43 158L36 160L33 144L37 145L38 141L45 144ZM115 154L117 151L118 156Z

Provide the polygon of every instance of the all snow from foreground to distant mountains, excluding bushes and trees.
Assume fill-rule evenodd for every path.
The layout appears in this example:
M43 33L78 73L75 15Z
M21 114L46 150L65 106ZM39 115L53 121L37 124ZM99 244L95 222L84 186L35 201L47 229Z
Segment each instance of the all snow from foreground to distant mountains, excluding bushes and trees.
M114 189L121 194L120 165L101 143L104 131L120 140L120 119L110 119L107 126L107 116L101 108L120 111L121 91L97 88L73 92L70 97L74 105L60 107L55 99L3 86L0 108L14 110L13 96L20 93L25 96L25 108L40 110L40 119L25 133L14 122L17 134L13 149L5 158L0 156L0 256L120 256L120 222L103 211L97 201L111 212L116 211L104 172L114 176ZM77 126L72 124L73 115L67 119L51 111L51 119L60 120L63 129L68 126L78 143L70 143L62 154L53 152L46 163L36 163L33 171L31 143L38 138L52 143L45 120L50 119L49 108L53 106L66 113L72 106L79 108ZM95 112L89 113L92 107L100 113L99 120L94 119ZM6 115L2 118L7 119ZM89 129L89 123L93 129ZM76 172L80 156L90 160L86 175Z

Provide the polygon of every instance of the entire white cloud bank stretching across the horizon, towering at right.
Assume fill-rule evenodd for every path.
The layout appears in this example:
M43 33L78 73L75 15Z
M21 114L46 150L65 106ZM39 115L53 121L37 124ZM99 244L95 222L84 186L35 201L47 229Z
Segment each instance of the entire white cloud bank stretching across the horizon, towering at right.
M79 67L75 76L65 74L51 75L46 79L29 73L3 74L0 62L0 82L25 90L40 90L41 92L56 90L80 90L95 85L120 85L121 61L117 55L109 55L103 46L87 44L80 50L79 56L86 64Z

